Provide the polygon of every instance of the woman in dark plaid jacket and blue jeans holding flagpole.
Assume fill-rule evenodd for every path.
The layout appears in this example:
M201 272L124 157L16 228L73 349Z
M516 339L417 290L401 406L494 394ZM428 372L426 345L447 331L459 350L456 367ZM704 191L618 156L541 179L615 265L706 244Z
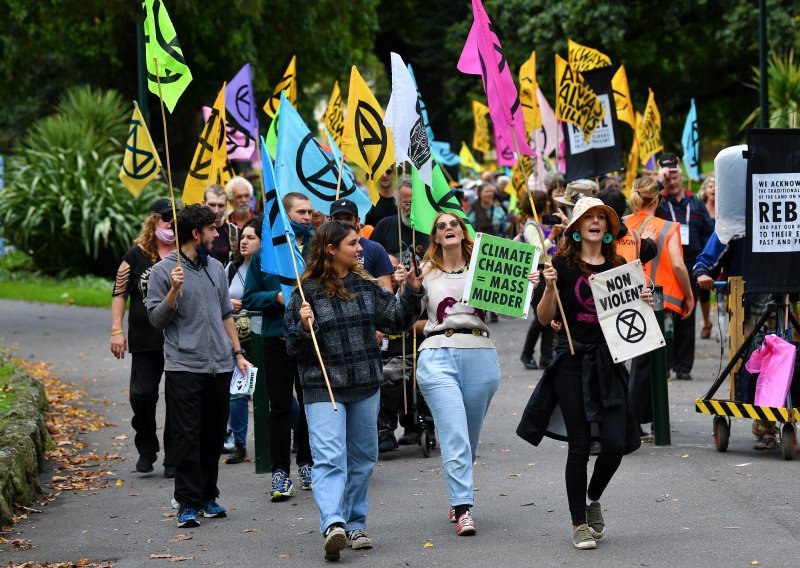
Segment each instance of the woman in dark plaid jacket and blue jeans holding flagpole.
M355 227L323 224L283 320L286 350L297 357L314 458L314 500L325 537L325 559L347 546L372 548L366 534L367 488L378 461L378 406L383 382L375 332L400 333L420 313L424 290L413 271L398 266L406 286L395 296L359 266ZM311 337L313 326L337 410L331 404Z

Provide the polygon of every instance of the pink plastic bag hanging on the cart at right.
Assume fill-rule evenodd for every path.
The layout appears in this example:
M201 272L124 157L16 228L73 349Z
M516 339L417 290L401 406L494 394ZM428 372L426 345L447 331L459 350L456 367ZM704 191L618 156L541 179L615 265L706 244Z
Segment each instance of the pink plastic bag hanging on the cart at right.
M749 373L758 373L756 406L781 408L786 405L796 354L794 345L775 334L765 337L764 344L753 352L745 369Z

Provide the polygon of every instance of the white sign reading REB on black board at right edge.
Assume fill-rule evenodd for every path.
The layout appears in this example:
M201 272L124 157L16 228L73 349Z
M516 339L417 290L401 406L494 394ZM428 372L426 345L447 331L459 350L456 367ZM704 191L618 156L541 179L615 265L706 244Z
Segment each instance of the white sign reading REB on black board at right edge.
M753 174L753 252L800 246L800 173Z

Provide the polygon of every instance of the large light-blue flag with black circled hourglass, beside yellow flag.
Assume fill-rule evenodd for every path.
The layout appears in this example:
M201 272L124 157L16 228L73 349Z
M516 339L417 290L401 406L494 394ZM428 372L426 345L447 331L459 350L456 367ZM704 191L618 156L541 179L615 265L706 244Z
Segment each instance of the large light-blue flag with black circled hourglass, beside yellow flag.
M299 191L308 196L314 209L329 215L331 203L336 201L339 163L325 153L285 93L281 94L280 108L275 155L275 181L280 192ZM354 202L362 221L372 208L369 196L356 186L349 168L342 173L339 199Z

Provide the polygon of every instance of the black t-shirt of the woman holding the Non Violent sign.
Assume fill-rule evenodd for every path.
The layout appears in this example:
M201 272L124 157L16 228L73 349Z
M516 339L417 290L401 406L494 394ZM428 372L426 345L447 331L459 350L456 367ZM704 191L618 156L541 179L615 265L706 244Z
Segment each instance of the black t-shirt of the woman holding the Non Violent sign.
M592 274L613 268L609 262L600 265L587 264L586 267ZM566 261L558 256L553 257L553 268L558 272L556 285L572 338L580 343L605 341L597 319L589 276L567 265ZM562 335L566 336L566 333Z

